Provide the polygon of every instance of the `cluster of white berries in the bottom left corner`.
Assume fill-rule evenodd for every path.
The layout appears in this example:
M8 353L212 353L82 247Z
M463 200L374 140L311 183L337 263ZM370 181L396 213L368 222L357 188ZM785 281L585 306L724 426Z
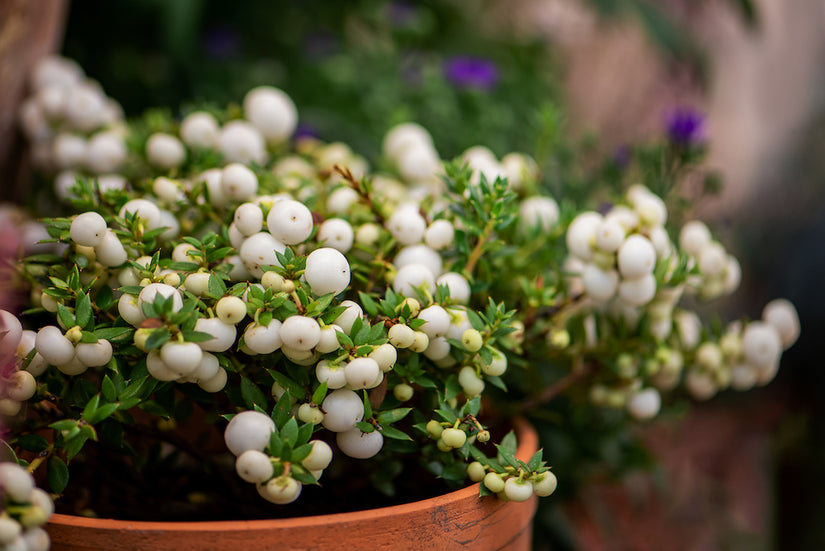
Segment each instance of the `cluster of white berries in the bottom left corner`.
M51 541L42 526L53 512L51 497L26 469L0 462L0 550L47 551Z

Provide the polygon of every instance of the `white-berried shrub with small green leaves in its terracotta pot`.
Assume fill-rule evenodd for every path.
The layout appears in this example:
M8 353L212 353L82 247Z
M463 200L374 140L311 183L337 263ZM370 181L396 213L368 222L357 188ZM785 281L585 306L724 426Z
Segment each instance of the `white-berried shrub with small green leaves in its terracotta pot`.
M413 123L388 132L373 172L345 144L290 142L297 111L272 87L179 124L158 113L127 124L66 60L41 62L33 86L24 129L76 214L45 220L48 250L10 267L32 307L0 314L11 549L48 546L38 526L52 506L26 471L75 514L298 516L310 535L329 519L308 513L469 479L482 497L458 492L441 525L470 535L450 545L524 548L524 522L492 515L529 522L556 475L542 450L516 453L509 420L562 395L651 419L682 382L698 399L767 383L799 331L785 301L717 327L679 307L684 294L731 292L739 266L700 222L669 233L668 207L641 184L606 195L601 212L560 207L528 156L476 147L444 163ZM674 162L695 159L690 138ZM646 183L663 193L678 174ZM406 522L438 524L440 499ZM450 516L471 502L475 516ZM367 537L376 511L334 534ZM61 544L106 532L101 546L132 545L112 539L123 523L77 521L89 531L70 543L68 521L52 518ZM502 537L500 522L516 530ZM133 524L153 548L221 531L189 525L164 544L162 527Z

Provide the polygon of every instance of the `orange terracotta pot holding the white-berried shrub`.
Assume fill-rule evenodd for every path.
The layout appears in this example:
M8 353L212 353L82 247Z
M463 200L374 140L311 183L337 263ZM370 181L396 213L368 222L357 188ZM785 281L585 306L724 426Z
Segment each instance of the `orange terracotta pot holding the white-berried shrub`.
M518 457L538 448L535 431L515 423ZM53 550L137 549L507 549L531 546L536 497L523 503L479 498L479 486L367 511L294 519L221 522L130 522L55 514L47 527Z

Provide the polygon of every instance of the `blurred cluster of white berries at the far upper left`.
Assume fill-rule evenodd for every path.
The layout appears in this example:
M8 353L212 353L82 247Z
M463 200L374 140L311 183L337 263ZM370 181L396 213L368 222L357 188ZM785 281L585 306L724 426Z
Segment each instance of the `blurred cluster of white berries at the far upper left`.
M34 161L58 174L58 197L68 197L80 174L105 176L108 184L124 185L122 178L111 177L128 156L120 105L64 58L40 60L30 84L31 95L20 108L20 126L30 140Z

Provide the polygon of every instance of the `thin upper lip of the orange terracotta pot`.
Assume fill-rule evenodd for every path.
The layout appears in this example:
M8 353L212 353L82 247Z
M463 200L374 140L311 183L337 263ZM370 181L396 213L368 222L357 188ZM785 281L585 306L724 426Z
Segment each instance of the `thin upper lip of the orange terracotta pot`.
M518 436L519 446L516 456L522 461L527 461L530 456L538 450L538 435L529 422L524 419L514 419L513 429ZM495 500L494 496L479 498L480 483L475 483L466 488L453 492L413 501L389 507L379 507L376 509L364 509L362 511L349 511L346 513L332 513L327 515L277 518L277 519L256 519L256 520L216 520L216 521L132 521L108 518L92 518L77 515L65 515L55 513L49 518L49 524L76 526L80 528L98 528L106 530L151 530L153 532L223 532L227 530L270 530L279 526L290 526L293 528L313 528L318 526L328 526L330 524L372 520L378 518L391 518L411 513L421 512L437 508L449 503L469 501L472 499ZM502 502L503 503L503 502Z

